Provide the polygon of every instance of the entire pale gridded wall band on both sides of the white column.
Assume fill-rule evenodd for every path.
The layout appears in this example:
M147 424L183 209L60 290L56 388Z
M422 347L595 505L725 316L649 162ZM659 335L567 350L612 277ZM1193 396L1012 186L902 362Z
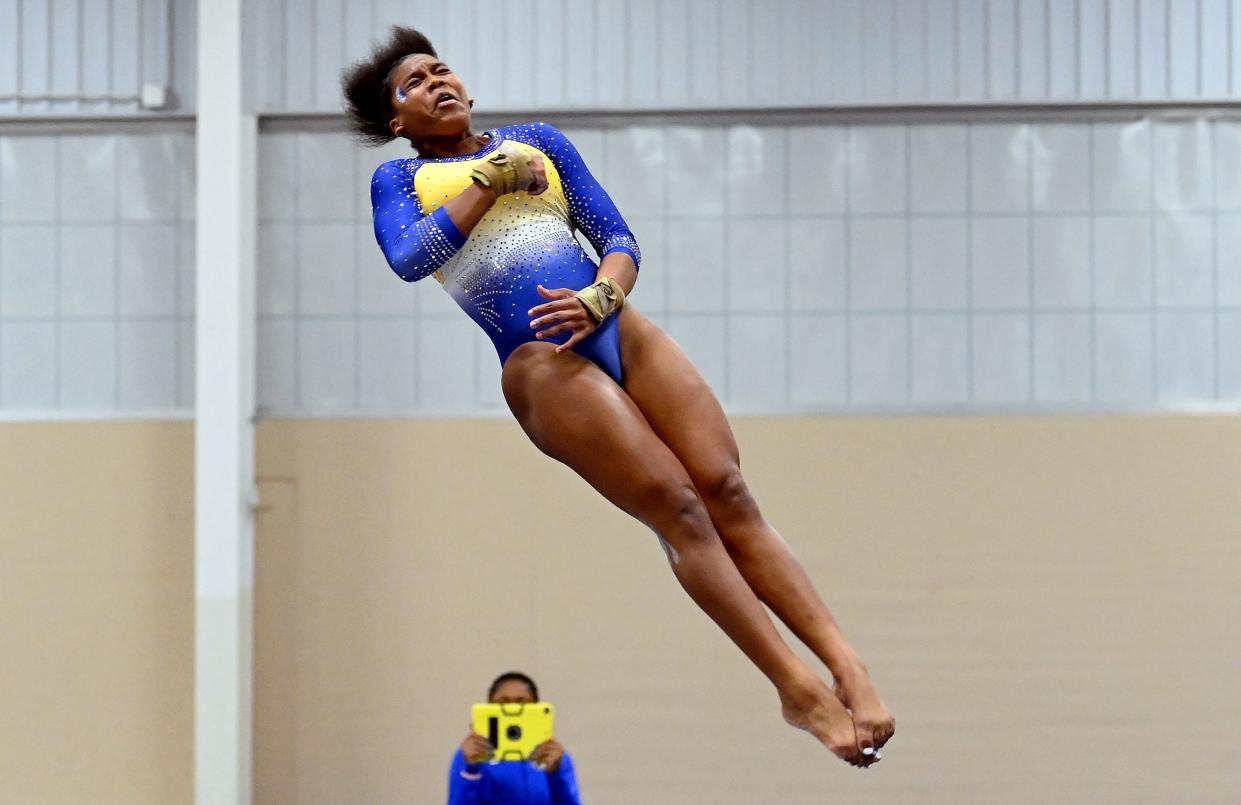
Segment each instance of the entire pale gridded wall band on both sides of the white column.
M689 339L730 408L745 411L952 406L962 382L964 404L982 407L1232 401L1236 131L1190 119L570 134L650 244L635 304ZM192 186L169 169L191 143L166 133L0 138L0 354L10 356L0 414L171 413L190 399L192 207L177 200ZM262 383L276 385L266 406L406 413L464 399L460 411L496 409L489 347L470 347L453 381L464 386L434 392L417 385L431 370L416 365L443 344L401 341L395 355L413 361L398 367L407 380L364 358L382 334L442 332L460 315L434 284L390 277L360 218L362 177L398 153L361 151L331 133L263 136L261 331L272 342ZM758 264L769 282L747 270ZM738 327L768 320L782 402L752 389L728 398L753 360L736 352ZM959 366L962 329L965 380L933 382ZM819 331L844 342L797 336ZM109 335L71 349L91 334ZM938 347L918 334L947 355L932 356ZM1082 346L1075 362L1055 357L1065 344ZM22 345L51 361L30 370L29 393L14 388L31 366ZM98 368L67 376L82 355Z

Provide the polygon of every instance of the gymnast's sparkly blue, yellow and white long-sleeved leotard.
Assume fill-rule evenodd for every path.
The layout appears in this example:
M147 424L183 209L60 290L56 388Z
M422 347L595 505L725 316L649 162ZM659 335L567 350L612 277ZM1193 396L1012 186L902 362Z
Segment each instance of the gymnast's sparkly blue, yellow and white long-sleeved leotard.
M558 129L531 123L486 134L490 141L475 154L380 165L371 180L371 208L375 239L392 270L411 283L434 274L491 337L503 365L513 350L536 340L529 311L547 301L536 285L581 290L594 282L598 265L573 237L575 228L599 259L624 252L637 265L642 256L612 198ZM547 190L500 196L465 237L443 205L469 187L475 164L504 140L544 158ZM606 319L573 350L619 383L617 319ZM546 340L563 344L568 334Z

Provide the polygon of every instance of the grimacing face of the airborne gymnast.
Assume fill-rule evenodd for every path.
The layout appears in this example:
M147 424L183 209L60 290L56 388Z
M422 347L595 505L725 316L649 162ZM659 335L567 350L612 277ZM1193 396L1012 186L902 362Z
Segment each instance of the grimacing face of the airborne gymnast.
M465 84L434 56L408 56L388 79L397 136L417 141L459 136L469 131L470 100Z

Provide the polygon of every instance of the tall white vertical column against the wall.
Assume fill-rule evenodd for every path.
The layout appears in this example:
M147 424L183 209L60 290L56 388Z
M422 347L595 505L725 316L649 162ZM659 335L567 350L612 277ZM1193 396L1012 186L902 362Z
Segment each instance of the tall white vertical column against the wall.
M242 0L199 2L195 801L252 798L254 150Z

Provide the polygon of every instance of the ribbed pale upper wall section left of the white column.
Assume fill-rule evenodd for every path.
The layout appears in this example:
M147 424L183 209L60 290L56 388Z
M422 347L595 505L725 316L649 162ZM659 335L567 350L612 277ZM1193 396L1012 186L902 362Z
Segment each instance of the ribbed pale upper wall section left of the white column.
M194 108L195 0L0 0L0 115L141 113L144 83Z

